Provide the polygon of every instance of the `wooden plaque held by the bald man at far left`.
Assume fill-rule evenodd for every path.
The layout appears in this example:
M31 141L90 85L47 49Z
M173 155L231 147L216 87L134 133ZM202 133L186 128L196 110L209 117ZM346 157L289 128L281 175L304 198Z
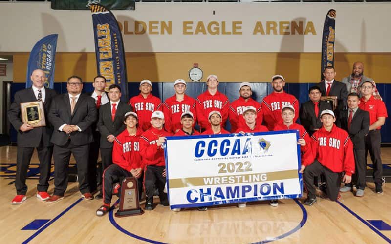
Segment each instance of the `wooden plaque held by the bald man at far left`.
M46 126L42 101L21 102L22 122L33 127Z

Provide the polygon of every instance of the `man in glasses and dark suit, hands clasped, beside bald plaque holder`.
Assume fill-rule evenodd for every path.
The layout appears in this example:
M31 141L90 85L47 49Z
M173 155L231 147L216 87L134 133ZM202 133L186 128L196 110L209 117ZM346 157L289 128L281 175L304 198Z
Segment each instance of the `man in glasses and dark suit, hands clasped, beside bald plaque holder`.
M78 76L68 78L68 93L53 99L49 111L49 121L54 127L51 142L54 144L54 194L47 203L55 203L64 198L68 186L68 165L70 155L76 160L79 190L82 198L92 200L88 185L88 149L93 141L91 124L97 119L95 101L83 89Z

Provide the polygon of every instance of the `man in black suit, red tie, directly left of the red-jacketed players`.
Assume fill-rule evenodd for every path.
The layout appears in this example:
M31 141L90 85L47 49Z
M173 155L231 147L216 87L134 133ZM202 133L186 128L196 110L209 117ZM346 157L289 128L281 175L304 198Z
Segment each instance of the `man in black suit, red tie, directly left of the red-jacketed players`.
M109 86L110 102L99 108L98 130L101 133L100 147L102 158L102 171L105 171L112 164L113 142L116 136L125 130L124 116L131 112L131 106L120 101L121 87L118 85ZM100 192L96 199L102 199Z

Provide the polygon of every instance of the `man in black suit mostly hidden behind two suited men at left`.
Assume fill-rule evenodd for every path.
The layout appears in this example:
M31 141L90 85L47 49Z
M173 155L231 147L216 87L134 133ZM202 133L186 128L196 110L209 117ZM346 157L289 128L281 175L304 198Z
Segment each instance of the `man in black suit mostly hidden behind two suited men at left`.
M88 92L87 95L95 99L96 109L98 110L97 117L99 118L100 106L109 102L109 96L107 92L105 92L106 78L101 75L96 76L94 78L94 82L92 83L92 86L94 87L94 91ZM91 125L94 142L89 144L89 153L88 153L88 172L89 172L88 181L89 181L89 190L91 192L96 191L97 184L102 182L101 180L102 168L100 167L98 171L96 168L98 157L99 157L99 148L100 148L100 140L101 140L101 133L99 133L99 130L96 126L97 123L98 121L94 122ZM99 176L98 178L97 175Z

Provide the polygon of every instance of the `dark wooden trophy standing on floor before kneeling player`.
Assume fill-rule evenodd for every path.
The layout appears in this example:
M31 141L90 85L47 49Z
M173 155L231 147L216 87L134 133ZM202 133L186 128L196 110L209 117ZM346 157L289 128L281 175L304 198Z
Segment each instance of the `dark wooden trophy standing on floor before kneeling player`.
M119 209L115 217L140 215L144 211L138 201L137 180L134 177L127 177L122 181Z

